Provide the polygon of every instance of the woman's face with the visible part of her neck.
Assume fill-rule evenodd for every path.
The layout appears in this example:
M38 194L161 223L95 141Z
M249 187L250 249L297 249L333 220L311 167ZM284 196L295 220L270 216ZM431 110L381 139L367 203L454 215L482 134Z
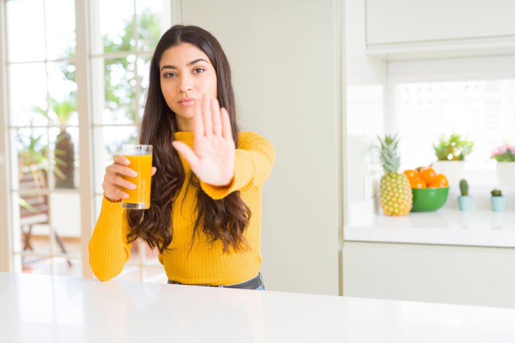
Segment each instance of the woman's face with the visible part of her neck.
M159 62L161 91L177 115L179 131L193 131L195 101L202 95L218 98L216 72L209 57L190 43L166 49Z

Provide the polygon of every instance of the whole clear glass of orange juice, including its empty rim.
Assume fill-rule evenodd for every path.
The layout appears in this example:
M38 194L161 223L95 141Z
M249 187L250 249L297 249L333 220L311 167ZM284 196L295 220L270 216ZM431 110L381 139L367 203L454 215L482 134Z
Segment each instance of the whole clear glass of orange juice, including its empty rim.
M152 146L144 144L124 144L123 155L129 161L129 168L138 175L123 178L136 185L135 189L124 188L129 194L128 198L122 198L122 207L133 210L150 208L150 173L152 171Z

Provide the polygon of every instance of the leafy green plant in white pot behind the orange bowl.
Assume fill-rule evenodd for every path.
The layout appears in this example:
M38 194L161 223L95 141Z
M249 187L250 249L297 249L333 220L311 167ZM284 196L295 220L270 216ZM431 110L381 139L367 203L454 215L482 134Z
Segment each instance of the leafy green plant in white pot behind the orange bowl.
M437 158L433 167L446 175L449 183L457 183L465 177L465 156L472 153L473 146L473 141L455 132L449 137L442 134L438 142L433 144Z

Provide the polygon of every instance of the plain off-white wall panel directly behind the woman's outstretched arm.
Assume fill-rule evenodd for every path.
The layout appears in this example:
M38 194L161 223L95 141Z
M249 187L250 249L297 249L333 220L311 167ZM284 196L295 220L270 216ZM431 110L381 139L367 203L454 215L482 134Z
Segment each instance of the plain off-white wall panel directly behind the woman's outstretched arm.
M182 2L182 23L212 32L229 58L241 130L265 136L276 151L261 242L271 291L338 294L339 3Z

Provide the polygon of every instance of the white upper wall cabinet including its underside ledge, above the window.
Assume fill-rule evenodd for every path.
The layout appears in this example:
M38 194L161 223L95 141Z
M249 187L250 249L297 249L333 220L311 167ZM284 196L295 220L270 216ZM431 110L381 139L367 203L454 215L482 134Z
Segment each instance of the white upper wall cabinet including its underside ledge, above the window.
M367 51L509 53L515 51L514 15L512 0L366 0Z

